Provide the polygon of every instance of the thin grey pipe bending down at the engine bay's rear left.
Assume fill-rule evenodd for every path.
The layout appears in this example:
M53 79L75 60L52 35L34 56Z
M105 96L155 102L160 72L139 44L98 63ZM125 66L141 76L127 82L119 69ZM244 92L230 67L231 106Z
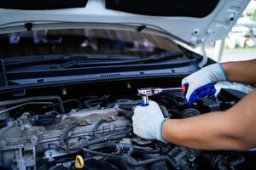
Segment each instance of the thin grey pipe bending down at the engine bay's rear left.
M26 103L26 102L30 102L30 101L42 101L42 100L58 100L61 114L65 114L65 109L64 109L62 99L60 96L56 96L56 95L54 95L54 96L34 96L34 97L27 97L27 98L22 98L22 99L4 100L4 101L0 101L0 107L6 106L6 105L16 105L16 104Z

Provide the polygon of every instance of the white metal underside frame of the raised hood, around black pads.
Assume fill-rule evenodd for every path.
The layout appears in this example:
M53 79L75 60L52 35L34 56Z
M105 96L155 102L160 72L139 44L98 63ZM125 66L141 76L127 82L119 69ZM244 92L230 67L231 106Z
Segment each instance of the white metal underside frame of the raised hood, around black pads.
M54 10L0 8L0 33L26 31L25 23L32 23L32 30L46 29L49 27L44 26L45 24L60 22L67 22L70 27L75 26L75 23L84 23L90 26L109 25L113 29L119 26L147 26L146 31L158 31L162 35L177 37L182 42L196 46L202 42L214 42L225 37L249 2L250 0L220 0L212 13L204 18L130 14L105 8L103 0L89 0L85 8Z

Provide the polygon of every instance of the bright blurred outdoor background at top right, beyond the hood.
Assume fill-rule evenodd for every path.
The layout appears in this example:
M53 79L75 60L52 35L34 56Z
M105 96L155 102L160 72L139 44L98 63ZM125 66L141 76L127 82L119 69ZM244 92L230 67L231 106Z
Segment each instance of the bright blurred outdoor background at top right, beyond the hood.
M256 59L256 1L251 1L224 40L206 46L207 56L219 62Z

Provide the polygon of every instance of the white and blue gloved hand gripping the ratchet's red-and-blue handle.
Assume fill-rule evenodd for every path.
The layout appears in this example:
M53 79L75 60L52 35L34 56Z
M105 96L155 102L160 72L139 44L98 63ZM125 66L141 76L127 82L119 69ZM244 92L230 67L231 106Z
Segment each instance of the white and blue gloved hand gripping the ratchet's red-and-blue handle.
M183 98L192 105L198 99L213 96L216 92L214 84L224 81L227 81L227 77L222 65L219 63L208 65L189 77L183 78L182 84L189 87Z

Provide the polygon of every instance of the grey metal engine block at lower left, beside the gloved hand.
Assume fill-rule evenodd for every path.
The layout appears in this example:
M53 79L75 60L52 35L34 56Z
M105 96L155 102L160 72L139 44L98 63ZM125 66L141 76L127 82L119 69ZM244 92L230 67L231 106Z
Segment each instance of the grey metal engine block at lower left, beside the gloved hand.
M76 144L80 138L92 139L94 127L101 120L104 122L97 129L99 134L106 135L131 126L131 121L118 116L115 108L71 111L66 115L56 116L55 123L48 126L32 125L32 119L37 119L37 116L24 113L1 129L0 153L3 160L0 163L6 169L25 170L36 167L36 157L42 150L47 161L69 154L67 150L51 149L49 145L62 146L61 136L74 122L76 125L67 133L67 144Z

